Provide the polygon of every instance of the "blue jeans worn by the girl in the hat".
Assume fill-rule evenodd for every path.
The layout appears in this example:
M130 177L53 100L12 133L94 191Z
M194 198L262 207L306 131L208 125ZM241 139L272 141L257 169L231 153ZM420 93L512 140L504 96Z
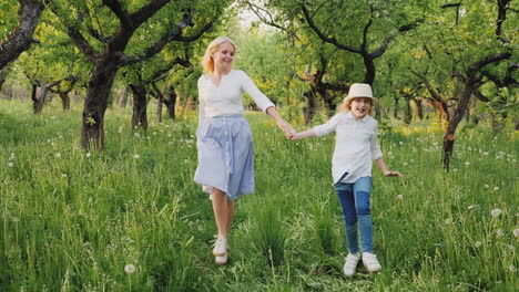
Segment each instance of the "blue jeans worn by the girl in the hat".
M334 185L343 207L346 242L350 253L359 251L357 222L363 252L373 252L373 220L369 209L372 185L370 177L362 177L353 184L337 182Z

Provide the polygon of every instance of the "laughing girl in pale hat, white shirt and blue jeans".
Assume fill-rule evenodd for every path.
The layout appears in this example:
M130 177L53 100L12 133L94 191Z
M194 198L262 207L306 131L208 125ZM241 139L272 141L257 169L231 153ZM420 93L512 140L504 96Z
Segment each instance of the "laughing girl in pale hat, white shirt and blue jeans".
M383 159L377 138L377 121L372 86L355 83L338 113L328 123L296 133L291 139L320 137L336 132L335 152L332 160L335 191L343 207L346 225L346 241L349 254L344 264L344 274L355 274L357 263L363 263L369 272L378 272L381 265L373 253L373 221L369 210L372 192L372 167L375 160L385 176L403 177L398 171L389 171ZM360 230L362 254L357 241L357 222Z

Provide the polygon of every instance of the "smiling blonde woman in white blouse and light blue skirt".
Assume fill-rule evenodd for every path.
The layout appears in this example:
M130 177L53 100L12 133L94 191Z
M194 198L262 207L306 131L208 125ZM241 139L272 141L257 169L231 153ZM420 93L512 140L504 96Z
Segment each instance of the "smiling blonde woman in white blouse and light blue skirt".
M233 70L235 52L236 45L227 36L212 41L202 61L204 74L199 79L199 166L194 181L212 195L218 229L213 249L217 264L227 262L234 200L254 192L253 139L251 127L242 116L243 93L272 116L287 137L295 133L254 82L243 71Z

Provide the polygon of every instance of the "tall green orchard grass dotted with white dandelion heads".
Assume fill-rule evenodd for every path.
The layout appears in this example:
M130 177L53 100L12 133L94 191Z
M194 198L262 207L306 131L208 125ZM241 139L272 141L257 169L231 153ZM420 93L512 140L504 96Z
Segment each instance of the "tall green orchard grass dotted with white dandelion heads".
M150 114L150 129L133 133L131 108L109 109L105 150L85 153L80 105L70 113L59 106L33 115L28 102L0 101L0 291L518 286L518 147L509 127L495 139L486 125L461 127L449 173L438 123L383 128L385 160L405 176L374 168L375 252L384 269L359 267L346 279L333 135L288 142L271 118L247 114L256 194L238 199L230 263L216 267L211 202L192 181L195 115L156 124Z

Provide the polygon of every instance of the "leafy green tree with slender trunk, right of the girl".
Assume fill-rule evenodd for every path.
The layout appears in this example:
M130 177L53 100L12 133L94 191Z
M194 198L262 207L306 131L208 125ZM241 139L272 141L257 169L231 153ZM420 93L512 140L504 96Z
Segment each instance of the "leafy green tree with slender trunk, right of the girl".
M414 67L409 69L423 81L432 98L441 104L448 122L442 155L447 170L454 153L456 129L470 98L488 82L485 72L497 70L499 63L512 56L511 45L502 42L502 39L508 39L506 33L495 33L501 31L496 28L502 25L506 19L500 14L502 11L495 8L503 3L506 6L509 1L497 0L493 6L467 1L459 6L439 7L440 11L456 8L452 11L455 21L452 14L445 17L446 13L438 11L431 14L428 25L414 35L416 40L413 42L419 43L410 52L415 62ZM498 15L495 15L496 10L499 11ZM495 19L495 27L484 19Z

